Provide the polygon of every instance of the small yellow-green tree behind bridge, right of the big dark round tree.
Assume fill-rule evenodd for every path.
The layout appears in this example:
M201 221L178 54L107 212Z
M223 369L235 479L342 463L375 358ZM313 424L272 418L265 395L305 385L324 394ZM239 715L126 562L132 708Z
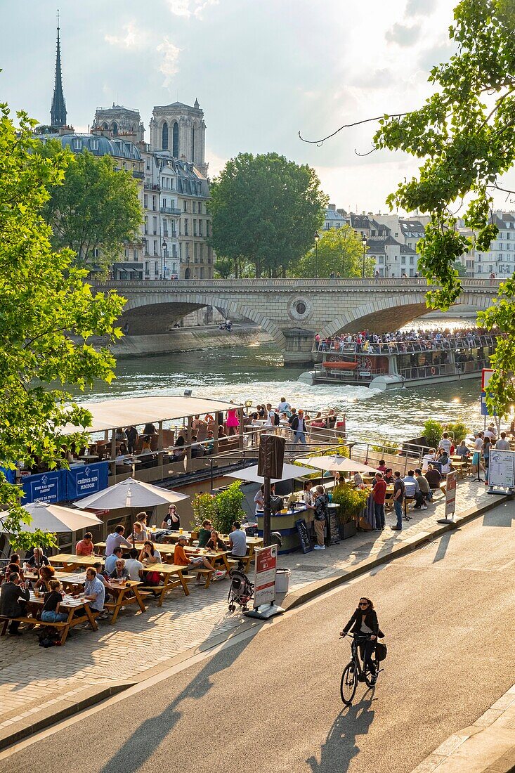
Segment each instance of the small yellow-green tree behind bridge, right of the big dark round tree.
M293 264L290 273L296 277L314 277L317 264L319 277L329 277L332 273L343 278L360 277L363 271L361 237L347 225L321 231L318 248L313 247L298 264ZM374 259L365 256L365 276L373 276L374 268Z

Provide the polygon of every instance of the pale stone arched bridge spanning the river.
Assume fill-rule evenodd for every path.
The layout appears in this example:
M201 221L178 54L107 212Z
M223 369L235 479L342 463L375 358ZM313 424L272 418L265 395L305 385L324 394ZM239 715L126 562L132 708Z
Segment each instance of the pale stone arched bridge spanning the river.
M499 282L463 279L459 304L488 308ZM309 362L315 332L396 330L428 311L425 279L184 279L107 281L127 304L121 325L128 335L165 333L189 312L213 306L260 325L281 350L285 364Z

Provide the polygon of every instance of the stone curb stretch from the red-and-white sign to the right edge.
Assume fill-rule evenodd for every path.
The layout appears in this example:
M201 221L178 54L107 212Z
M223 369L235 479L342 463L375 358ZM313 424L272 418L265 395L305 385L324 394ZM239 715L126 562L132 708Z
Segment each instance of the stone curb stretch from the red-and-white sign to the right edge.
M343 583L353 580L355 577L359 577L360 574L364 574L374 567L389 564L390 561L395 558L405 556L407 553L412 553L424 543L431 542L438 536L442 536L442 534L445 534L448 531L452 531L459 528L459 526L463 526L465 523L469 523L469 521L483 515L484 512L489 512L489 510L493 510L495 507L503 504L503 502L508 502L510 499L512 499L511 496L503 495L491 499L483 506L472 507L469 510L465 510L455 519L455 523L438 524L431 532L422 533L421 536L410 543L398 543L394 545L394 547L387 548L387 550L377 553L377 556L373 558L366 558L363 561L360 561L360 563L353 566L352 569L338 570L334 577L326 577L325 580L310 583L299 591L288 594L288 596L281 601L281 606L285 611L288 611L288 609L295 609L295 607L300 606L300 604L305 604L306 601L310 601L312 598L316 598L316 596L326 593L326 591L331 591L334 587L343 585Z

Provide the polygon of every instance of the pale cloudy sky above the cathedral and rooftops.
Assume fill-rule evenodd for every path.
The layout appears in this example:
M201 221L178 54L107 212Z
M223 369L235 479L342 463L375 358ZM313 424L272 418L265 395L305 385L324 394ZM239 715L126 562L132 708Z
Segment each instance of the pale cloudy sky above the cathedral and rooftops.
M373 152L376 124L318 139L342 124L419 107L431 67L453 53L454 0L0 0L0 100L49 123L60 9L68 122L87 131L95 108L138 108L149 141L154 105L196 98L211 177L239 152L275 151L312 165L331 202L387 212L417 171L400 152ZM506 182L515 183L515 175ZM499 194L496 206L513 208Z

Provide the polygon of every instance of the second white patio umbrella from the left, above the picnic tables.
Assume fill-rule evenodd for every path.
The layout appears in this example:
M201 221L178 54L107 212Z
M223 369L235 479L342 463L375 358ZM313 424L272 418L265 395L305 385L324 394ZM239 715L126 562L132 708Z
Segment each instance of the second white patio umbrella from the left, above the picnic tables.
M189 499L187 494L179 494L169 489L161 489L157 485L137 481L134 478L109 486L107 489L91 494L75 502L80 509L117 510L122 507L152 507L166 505Z

